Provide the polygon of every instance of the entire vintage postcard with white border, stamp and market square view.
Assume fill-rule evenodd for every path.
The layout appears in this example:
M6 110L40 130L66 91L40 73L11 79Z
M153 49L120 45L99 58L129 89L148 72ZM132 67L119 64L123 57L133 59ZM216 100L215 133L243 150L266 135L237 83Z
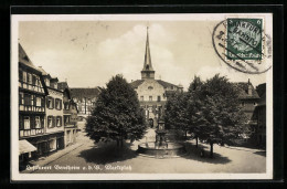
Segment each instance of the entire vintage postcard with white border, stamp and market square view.
M12 180L273 178L273 14L11 15Z

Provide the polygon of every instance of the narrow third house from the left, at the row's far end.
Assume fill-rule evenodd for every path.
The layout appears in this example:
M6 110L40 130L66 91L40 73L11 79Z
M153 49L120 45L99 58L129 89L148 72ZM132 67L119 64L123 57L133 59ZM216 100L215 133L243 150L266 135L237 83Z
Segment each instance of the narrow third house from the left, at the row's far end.
M71 97L71 92L66 82L61 82L57 85L59 90L63 91L63 122L64 122L64 139L65 146L76 143L77 136L77 106Z

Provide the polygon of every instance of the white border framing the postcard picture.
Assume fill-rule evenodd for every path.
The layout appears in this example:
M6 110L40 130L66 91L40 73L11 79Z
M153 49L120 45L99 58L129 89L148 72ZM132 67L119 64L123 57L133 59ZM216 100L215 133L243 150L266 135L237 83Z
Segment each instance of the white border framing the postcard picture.
M20 21L222 21L226 17L265 17L266 33L273 36L272 13L184 14L25 14L11 15L11 179L30 180L219 180L273 178L273 69L266 78L266 174L19 174L18 36ZM211 36L212 38L212 36ZM220 59L220 57L219 57Z

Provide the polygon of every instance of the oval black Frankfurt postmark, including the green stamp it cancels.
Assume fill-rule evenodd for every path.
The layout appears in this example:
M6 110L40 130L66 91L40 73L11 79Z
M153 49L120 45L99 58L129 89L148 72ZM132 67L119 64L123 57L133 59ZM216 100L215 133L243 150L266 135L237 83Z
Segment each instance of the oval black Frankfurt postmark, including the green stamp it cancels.
M236 71L261 74L272 67L272 38L264 32L263 18L227 18L215 25L213 48Z

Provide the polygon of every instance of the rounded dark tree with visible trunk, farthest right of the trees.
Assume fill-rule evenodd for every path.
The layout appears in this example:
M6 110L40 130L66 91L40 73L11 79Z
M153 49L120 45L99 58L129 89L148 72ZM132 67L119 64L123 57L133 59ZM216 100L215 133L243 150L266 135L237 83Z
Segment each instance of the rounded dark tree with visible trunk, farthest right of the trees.
M201 124L198 126L201 140L211 146L211 157L214 144L228 144L245 130L247 119L240 106L238 94L238 88L219 74L201 86Z

